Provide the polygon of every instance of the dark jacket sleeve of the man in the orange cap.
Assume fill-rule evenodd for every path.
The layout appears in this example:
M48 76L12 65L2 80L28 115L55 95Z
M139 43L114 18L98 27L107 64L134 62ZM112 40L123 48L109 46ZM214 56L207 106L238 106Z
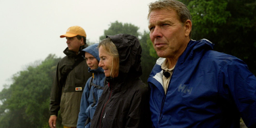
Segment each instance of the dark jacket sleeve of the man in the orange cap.
M63 85L61 85L61 71L60 71L60 62L57 65L55 79L53 81L53 86L51 89L51 96L50 96L50 108L49 108L49 114L50 115L56 115L58 116L58 111L60 108L61 103L61 93Z

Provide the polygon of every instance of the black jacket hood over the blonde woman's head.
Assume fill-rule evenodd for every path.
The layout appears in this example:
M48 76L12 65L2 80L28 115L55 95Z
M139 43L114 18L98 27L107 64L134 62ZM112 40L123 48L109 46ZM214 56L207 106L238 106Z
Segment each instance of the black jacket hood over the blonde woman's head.
M137 37L130 34L117 34L106 37L109 37L117 46L119 73L134 73L140 76L142 74L141 45Z

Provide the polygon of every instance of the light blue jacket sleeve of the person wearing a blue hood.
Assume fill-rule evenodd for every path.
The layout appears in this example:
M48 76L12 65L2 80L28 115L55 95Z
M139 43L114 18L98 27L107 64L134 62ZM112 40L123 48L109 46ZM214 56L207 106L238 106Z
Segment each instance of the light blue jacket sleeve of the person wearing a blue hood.
M84 128L84 126L86 124L86 120L88 119L86 110L89 106L89 102L87 99L89 98L89 94L90 94L90 89L89 89L90 79L92 79L92 77L90 77L88 79L88 81L86 82L86 86L85 86L84 92L82 94L81 103L80 103L80 111L79 111L78 120L77 120L77 128Z

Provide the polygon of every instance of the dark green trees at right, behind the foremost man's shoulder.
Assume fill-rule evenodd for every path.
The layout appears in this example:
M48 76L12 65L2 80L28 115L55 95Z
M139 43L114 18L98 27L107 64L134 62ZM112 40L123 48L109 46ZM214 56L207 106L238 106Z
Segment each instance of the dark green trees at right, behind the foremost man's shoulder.
M192 15L192 38L207 38L214 49L234 55L256 74L255 0L181 0Z

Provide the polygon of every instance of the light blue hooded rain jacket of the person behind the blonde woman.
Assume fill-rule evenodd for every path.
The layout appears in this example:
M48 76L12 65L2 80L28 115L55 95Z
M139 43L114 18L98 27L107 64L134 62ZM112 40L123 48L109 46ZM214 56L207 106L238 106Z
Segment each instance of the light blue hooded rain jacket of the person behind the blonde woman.
M100 61L100 58L98 56L98 49L97 44L92 44L88 46L83 51L90 53L93 55L98 61ZM77 121L77 128L90 128L90 123L88 123L85 126L86 120L88 117L92 119L94 116L94 112L96 110L96 106L98 105L98 99L100 98L103 90L99 88L95 88L94 86L90 87L90 81L92 80L92 83L104 87L104 70L101 67L98 67L97 69L90 69L88 68L88 71L91 73L94 73L94 77L90 77L88 81L86 82L86 86L84 87L84 92L82 94L81 104L80 104L80 111L78 115L78 121ZM96 104L94 104L94 96L96 99Z

